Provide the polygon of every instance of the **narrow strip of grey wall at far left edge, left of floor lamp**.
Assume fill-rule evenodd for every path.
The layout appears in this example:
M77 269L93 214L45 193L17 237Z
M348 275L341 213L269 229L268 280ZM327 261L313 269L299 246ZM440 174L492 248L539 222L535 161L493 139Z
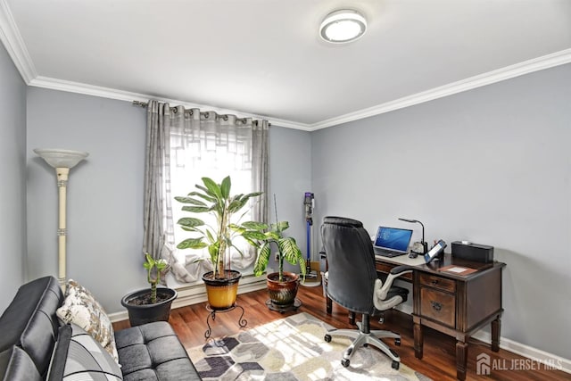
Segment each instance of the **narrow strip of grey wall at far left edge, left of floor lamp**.
M0 311L26 279L26 84L0 44Z

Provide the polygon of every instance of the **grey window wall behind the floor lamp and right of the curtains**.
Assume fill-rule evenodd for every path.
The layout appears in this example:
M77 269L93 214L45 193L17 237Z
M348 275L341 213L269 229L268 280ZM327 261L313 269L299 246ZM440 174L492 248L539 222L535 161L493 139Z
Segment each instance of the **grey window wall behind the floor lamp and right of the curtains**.
M70 170L67 273L108 312L122 311L121 296L148 286L141 257L145 109L37 87L28 91L29 276L57 275L55 171L32 149L87 151L87 161ZM277 126L269 131L270 194L276 193L279 218L292 223L288 232L295 237L305 234L309 136Z

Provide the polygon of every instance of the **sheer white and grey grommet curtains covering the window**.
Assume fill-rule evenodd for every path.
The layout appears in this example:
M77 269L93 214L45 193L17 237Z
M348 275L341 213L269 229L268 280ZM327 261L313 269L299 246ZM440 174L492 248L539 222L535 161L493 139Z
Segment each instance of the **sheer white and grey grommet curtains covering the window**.
M267 220L269 123L156 101L149 102L147 114L144 250L168 259L179 282L194 282L211 263L196 261L207 258L205 252L176 249L186 232L176 225L185 214L174 196L194 191L203 177L219 182L230 175L232 194L264 193L244 220ZM236 253L232 268L245 269L254 260L251 250L244 257Z

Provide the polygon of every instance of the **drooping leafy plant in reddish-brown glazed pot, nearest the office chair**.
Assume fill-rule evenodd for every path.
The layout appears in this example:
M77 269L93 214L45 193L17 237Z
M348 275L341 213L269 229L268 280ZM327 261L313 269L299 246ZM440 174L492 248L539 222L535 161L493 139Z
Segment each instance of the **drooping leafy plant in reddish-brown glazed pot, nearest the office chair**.
M277 220L277 216L276 216ZM268 285L269 300L271 305L282 311L288 307L294 306L295 295L300 284L300 276L294 272L284 271L284 260L290 264L299 264L300 273L305 277L305 260L302 251L295 242L294 237L284 236L283 232L289 228L287 221L276 222L271 224L265 239L261 244L261 249L254 263L253 273L257 277L266 270L271 255L271 245L277 247L277 272L269 273L266 276Z

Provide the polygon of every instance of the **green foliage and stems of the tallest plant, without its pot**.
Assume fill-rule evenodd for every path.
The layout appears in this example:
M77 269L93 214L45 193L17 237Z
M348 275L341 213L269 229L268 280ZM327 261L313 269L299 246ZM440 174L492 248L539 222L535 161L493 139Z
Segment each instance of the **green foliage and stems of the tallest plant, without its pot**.
M185 203L183 211L195 214L210 213L215 217L215 225L206 224L203 219L196 217L184 217L178 219L178 225L183 230L194 233L193 237L180 242L178 249L203 249L208 248L215 278L226 277L226 269L229 267L229 250L234 248L242 253L236 244L236 237L241 236L244 240L259 248L258 240L265 239L263 230L268 228L266 224L257 221L240 222L247 211L238 215L244 206L253 197L258 197L261 192L252 192L247 195L230 195L232 182L226 177L221 183L216 183L211 178L202 178L203 185L196 184L197 189L186 196L175 197L179 203Z

